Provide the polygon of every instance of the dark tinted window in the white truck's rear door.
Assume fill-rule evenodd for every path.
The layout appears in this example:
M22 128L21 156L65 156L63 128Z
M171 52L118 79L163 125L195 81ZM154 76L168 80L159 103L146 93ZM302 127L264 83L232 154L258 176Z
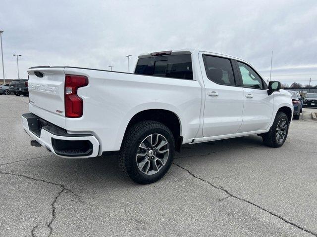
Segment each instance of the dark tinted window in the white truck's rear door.
M217 84L235 85L231 62L227 58L204 55L208 79Z

